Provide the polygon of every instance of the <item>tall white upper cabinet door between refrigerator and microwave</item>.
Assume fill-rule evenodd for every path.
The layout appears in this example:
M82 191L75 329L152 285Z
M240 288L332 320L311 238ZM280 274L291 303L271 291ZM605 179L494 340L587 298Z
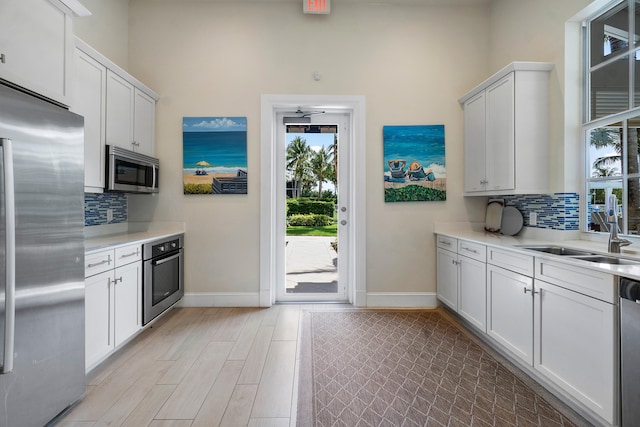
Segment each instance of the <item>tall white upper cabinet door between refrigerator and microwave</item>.
M76 50L71 111L84 116L85 192L102 192L105 167L105 108L107 69Z

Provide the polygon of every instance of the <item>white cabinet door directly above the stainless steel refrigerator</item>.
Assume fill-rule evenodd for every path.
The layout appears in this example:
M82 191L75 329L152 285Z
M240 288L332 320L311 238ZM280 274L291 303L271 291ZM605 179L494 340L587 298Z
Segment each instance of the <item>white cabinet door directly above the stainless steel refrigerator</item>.
M0 28L0 78L69 105L71 17L48 0L7 0Z

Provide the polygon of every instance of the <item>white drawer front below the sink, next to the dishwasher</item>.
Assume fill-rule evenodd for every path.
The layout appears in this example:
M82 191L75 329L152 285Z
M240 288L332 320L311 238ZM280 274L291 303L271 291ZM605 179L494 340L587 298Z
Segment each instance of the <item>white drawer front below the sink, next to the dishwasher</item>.
M536 258L536 280L606 301L617 302L615 276L573 264Z

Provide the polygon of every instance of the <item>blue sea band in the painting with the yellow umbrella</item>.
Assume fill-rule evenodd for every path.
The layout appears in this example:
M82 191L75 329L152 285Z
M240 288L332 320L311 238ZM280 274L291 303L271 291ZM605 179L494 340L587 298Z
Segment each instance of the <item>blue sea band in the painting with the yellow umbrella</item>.
M198 162L211 166L202 168L212 173L236 173L247 170L246 131L183 132L183 169L193 172Z

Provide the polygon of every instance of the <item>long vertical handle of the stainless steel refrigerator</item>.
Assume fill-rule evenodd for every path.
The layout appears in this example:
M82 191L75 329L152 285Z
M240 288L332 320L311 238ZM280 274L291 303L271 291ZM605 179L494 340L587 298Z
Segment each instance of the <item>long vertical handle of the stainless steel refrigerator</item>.
M13 180L13 145L8 138L0 138L4 165L5 217L5 307L4 352L0 374L13 370L13 348L16 320L16 210Z

